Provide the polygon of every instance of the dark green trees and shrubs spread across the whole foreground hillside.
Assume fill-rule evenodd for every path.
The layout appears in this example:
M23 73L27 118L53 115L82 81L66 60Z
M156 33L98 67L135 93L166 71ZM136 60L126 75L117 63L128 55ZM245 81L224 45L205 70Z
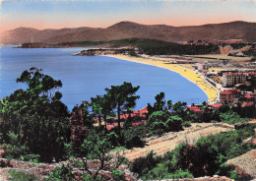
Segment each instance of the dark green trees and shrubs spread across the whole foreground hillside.
M43 75L40 69L31 68L24 71L17 82L27 84L28 89L13 92L0 104L0 146L6 152L5 156L34 163L51 162L53 158L59 161L79 157L75 165L83 168L84 180L102 180L98 177L100 169L110 169L115 180L123 179L122 172L116 168L128 160L119 156L117 165L111 167L109 151L144 147L144 138L178 132L192 122L243 123L247 120L246 116L255 110L229 108L228 105L213 110L202 105L202 113L197 114L187 109L186 102L172 103L165 100L164 93L160 92L155 96L156 102L148 104L146 118L132 117L132 109L140 97L136 95L140 87L123 83L111 86L105 89L105 94L96 95L91 102L83 101L80 106L73 108L74 114L79 115L87 127L79 152L76 152L75 142L70 139L71 114L61 102L62 94L58 91L62 87L61 81ZM123 113L130 116L122 120L120 115ZM110 124L113 117L116 117L118 126L107 129L106 124ZM97 127L93 125L95 119L99 121ZM146 120L147 125L133 126L142 119ZM124 122L123 126L121 122ZM239 178L225 161L255 149L254 145L244 144L243 140L254 135L256 126L235 128L231 132L201 138L194 146L181 143L163 156L151 151L147 156L135 159L130 164L130 170L138 173L142 179L178 179L214 174ZM98 160L94 174L90 167L92 159ZM56 168L48 180L72 179L71 168L63 166Z

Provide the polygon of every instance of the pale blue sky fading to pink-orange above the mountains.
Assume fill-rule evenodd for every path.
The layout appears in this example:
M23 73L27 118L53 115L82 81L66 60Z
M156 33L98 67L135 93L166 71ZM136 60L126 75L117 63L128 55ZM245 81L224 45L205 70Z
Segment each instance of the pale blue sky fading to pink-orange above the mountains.
M107 28L121 21L175 27L256 22L256 0L0 0L0 5L0 31Z

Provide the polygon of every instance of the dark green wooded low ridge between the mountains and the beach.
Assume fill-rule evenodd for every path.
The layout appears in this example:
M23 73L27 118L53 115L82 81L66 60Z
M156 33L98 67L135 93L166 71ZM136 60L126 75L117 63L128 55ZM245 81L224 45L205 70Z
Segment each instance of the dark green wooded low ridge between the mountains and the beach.
M55 44L55 46L98 46L106 45L110 47L132 46L140 49L140 53L148 55L202 55L211 54L219 51L219 46L195 45L195 44L178 44L174 42L166 42L157 39L144 38L126 38L111 41L81 41L81 42L64 42ZM131 51L132 56L137 56Z

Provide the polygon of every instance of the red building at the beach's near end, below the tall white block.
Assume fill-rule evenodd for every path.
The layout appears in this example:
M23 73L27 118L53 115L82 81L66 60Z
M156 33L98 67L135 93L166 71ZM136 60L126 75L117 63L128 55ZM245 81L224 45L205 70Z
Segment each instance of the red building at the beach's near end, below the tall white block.
M224 102L232 102L234 98L237 98L241 95L241 91L236 89L226 90L220 92L220 101L221 103Z

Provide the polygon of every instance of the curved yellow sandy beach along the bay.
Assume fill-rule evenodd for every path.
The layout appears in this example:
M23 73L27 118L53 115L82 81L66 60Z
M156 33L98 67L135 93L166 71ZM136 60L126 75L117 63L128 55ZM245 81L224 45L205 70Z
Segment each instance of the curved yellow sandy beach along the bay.
M207 83L199 74L196 74L194 71L182 67L178 64L166 64L160 59L154 58L141 58L141 57L131 57L128 55L104 55L104 56L110 56L122 60L127 60L131 62L136 63L142 63L147 65L152 65L156 67L160 67L163 69L167 69L173 72L178 73L188 81L192 82L196 86L198 86L202 91L204 91L208 96L208 101L210 103L213 103L218 98L218 93L220 92L218 89L214 88L212 85Z

